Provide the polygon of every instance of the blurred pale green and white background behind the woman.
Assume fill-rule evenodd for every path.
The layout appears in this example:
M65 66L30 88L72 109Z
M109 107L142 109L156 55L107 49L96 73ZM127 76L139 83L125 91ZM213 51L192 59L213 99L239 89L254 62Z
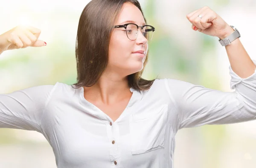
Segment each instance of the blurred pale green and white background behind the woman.
M230 90L229 61L217 37L195 32L186 19L209 6L228 24L256 59L253 37L256 1L139 0L148 24L154 26L144 78L176 78L222 91ZM6 51L0 55L0 93L27 87L76 82L75 42L78 21L89 0L9 0L1 4L0 34L19 24L41 29L41 48ZM256 122L205 125L180 130L176 136L175 168L256 167ZM0 129L0 168L56 168L52 149L35 131Z

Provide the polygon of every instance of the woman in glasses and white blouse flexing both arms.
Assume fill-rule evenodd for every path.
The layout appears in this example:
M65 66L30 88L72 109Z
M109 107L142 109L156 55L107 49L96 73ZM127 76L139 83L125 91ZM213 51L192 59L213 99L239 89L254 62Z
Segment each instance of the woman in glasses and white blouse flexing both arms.
M187 18L220 39L234 32L209 7ZM42 133L58 168L172 168L179 129L256 119L256 66L239 38L226 46L236 91L221 92L141 78L154 32L145 25L137 0L92 0L79 20L77 83L0 95L0 127ZM18 26L0 36L0 49L44 46L39 35Z

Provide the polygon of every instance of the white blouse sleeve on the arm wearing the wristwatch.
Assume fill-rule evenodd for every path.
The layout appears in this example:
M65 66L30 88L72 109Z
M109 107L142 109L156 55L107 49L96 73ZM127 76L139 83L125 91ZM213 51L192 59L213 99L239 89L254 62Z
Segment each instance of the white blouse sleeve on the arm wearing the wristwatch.
M240 78L231 66L229 69L234 92L166 79L166 89L177 109L178 129L256 119L256 71L248 78Z

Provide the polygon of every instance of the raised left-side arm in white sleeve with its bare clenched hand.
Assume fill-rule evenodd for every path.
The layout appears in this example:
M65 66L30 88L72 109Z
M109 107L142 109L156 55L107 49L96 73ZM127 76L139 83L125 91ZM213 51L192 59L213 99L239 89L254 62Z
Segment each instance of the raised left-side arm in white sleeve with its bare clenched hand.
M17 26L0 35L0 53L28 46L45 46L44 41L38 40L40 33L31 26ZM0 94L0 127L41 132L41 118L52 89L53 85L44 85Z

